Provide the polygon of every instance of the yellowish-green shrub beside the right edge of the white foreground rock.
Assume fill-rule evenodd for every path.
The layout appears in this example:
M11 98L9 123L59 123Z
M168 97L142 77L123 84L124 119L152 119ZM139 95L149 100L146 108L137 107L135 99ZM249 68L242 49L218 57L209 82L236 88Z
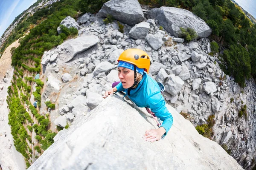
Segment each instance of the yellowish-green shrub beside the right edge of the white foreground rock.
M215 124L215 115L210 115L207 119L207 124L203 125L197 125L195 129L198 131L199 134L203 135L206 138L211 139L211 136L213 136L212 127Z

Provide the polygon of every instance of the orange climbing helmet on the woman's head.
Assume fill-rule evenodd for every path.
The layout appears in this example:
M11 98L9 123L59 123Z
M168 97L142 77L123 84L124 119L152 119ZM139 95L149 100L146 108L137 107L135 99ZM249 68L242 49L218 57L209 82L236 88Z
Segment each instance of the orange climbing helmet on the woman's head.
M122 52L117 61L125 61L136 65L138 68L144 68L148 73L150 67L150 58L148 54L137 48L130 48Z

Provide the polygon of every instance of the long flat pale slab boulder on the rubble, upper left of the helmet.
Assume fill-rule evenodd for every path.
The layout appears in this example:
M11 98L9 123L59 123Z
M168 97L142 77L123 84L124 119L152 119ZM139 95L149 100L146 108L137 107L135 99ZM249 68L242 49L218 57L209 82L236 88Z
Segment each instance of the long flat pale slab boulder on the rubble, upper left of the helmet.
M68 62L79 54L93 47L99 42L95 35L82 35L81 37L70 39L58 46L60 54L59 59Z

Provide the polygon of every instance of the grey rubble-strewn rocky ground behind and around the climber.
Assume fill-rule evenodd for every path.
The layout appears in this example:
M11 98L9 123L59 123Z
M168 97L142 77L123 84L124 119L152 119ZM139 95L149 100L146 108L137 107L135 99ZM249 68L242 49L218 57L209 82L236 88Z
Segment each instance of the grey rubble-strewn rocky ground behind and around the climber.
M43 103L58 105L50 113L55 125L64 127L66 120L76 124L77 117L95 108L118 81L116 59L125 49L140 48L152 59L150 75L166 86L166 102L188 113L194 126L215 114L213 140L227 144L240 164L250 166L255 155L254 103L249 102L255 100L254 83L248 81L241 93L234 79L221 71L218 56L208 55L209 39L180 43L182 39L160 30L152 19L134 27L124 24L122 34L116 21L106 25L98 15L86 15L79 37L46 52L42 60L42 76L48 80ZM247 119L238 116L241 101L247 105Z

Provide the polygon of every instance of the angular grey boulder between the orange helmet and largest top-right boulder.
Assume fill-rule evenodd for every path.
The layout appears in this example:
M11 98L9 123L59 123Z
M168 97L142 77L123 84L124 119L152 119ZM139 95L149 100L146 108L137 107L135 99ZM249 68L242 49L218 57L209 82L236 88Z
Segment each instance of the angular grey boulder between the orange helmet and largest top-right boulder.
M158 50L163 45L163 34L147 34L146 41L154 50Z

